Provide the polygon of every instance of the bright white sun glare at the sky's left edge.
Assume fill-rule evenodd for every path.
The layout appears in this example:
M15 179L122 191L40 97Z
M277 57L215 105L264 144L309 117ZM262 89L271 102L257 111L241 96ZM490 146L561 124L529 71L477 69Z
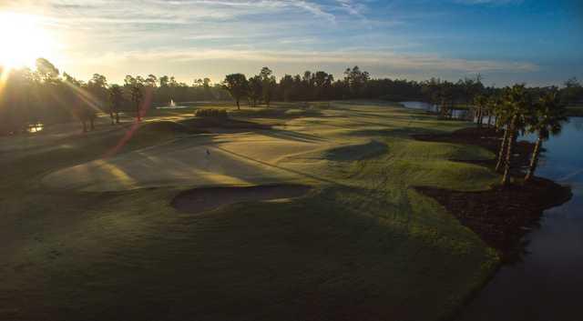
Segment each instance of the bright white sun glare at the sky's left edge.
M35 15L0 13L0 65L17 68L35 65L38 57L54 56L54 39Z

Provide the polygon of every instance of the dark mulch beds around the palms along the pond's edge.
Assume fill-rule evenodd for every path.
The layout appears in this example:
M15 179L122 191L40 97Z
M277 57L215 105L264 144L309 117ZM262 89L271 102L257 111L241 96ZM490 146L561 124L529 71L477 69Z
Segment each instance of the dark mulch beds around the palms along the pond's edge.
M424 141L480 145L497 154L502 133L490 128L464 128L448 135L415 135ZM521 170L528 164L532 144L518 142L512 159L514 183L510 186L492 186L486 191L464 192L418 186L416 189L432 196L472 229L488 246L496 248L503 261L511 262L524 252L523 236L536 226L544 210L567 202L572 194L568 186L535 177L524 182ZM496 159L464 161L494 168Z

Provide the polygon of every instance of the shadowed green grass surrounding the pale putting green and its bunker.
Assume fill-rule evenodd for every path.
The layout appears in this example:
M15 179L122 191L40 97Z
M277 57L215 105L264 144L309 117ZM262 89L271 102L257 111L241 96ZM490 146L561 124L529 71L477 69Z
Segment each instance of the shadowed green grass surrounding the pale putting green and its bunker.
M497 179L449 161L494 156L484 149L409 136L465 123L364 102L271 117L249 116L284 122L280 138L343 144L273 164L314 185L308 196L190 216L169 206L184 187L83 193L39 183L107 154L121 132L5 158L0 319L438 320L485 282L494 252L412 188L476 190ZM120 153L196 138L180 124L146 126Z

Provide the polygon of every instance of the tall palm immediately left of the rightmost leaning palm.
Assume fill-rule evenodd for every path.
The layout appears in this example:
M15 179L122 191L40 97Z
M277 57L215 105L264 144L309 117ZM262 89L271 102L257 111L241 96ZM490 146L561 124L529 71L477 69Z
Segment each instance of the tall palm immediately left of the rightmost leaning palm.
M504 162L504 175L502 185L506 186L510 180L510 160L512 150L517 140L518 131L524 126L524 117L527 115L530 106L530 96L525 85L513 85L506 90L506 104L510 115L510 123L507 124L508 137L506 138L506 159Z

